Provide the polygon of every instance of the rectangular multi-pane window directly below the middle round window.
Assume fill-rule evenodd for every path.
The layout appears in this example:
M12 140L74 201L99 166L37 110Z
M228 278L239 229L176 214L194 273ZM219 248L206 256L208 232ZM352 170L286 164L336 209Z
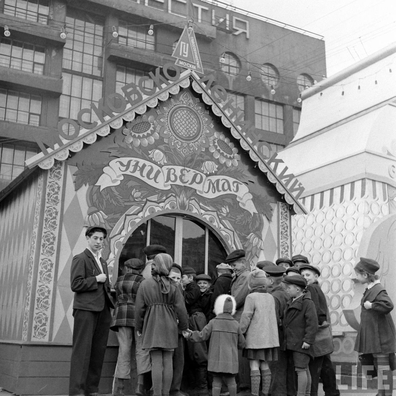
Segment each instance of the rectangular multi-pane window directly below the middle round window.
M256 99L255 126L264 131L283 133L283 106Z

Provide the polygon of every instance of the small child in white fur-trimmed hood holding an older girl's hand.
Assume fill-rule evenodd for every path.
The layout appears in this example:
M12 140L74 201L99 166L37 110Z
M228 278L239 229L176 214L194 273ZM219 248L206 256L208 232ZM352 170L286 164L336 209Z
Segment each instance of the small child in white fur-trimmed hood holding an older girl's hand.
M201 343L210 338L208 370L213 375L212 395L219 396L221 380L225 380L230 396L236 396L235 374L238 373L238 348L245 346L240 326L232 315L235 314L234 297L223 294L215 302L215 314L202 331L193 331L187 338Z

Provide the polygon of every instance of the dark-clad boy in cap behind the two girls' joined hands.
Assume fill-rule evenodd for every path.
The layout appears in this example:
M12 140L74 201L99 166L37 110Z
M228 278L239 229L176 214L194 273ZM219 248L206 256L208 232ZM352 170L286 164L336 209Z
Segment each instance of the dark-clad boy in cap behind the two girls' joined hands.
M188 328L201 331L206 326L206 318L200 305L201 290L195 282L196 272L191 267L183 267L182 269L181 283L184 287L183 296L188 313ZM194 373L198 394L208 396L208 348L206 343L193 344L187 342L187 348L191 364L194 366L192 372Z

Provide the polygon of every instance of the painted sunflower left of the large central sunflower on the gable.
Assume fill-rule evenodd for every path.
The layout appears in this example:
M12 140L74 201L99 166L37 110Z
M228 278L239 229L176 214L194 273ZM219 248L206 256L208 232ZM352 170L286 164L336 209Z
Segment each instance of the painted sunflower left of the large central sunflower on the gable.
M124 141L134 147L153 145L160 138L154 127L154 116L144 114L136 117L127 122L125 127L122 130L122 133L126 135Z

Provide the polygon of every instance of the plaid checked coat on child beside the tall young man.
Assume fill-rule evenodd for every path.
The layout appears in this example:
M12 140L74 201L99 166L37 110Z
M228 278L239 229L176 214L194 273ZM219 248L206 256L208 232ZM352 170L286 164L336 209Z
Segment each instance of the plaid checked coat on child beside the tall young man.
M110 324L113 331L118 331L118 326L135 327L136 293L144 279L136 270L117 278L116 307Z

